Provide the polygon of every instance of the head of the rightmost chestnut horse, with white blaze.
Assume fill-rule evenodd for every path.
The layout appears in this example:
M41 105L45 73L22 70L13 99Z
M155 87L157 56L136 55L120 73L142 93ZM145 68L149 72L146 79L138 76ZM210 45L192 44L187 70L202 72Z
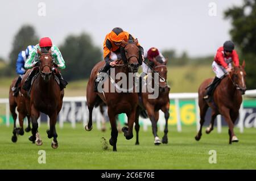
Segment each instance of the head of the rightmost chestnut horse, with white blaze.
M238 90L241 91L242 94L245 94L246 91L246 84L245 84L245 78L246 78L246 72L245 72L245 61L243 61L242 66L234 66L232 71L230 72L230 77L232 78L232 82L234 86Z

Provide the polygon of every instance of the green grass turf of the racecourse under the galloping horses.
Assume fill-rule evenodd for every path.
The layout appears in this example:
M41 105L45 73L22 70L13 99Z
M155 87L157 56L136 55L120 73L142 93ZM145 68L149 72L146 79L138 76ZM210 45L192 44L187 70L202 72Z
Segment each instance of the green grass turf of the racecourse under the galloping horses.
M81 124L72 129L64 124L57 125L59 148L51 148L51 140L47 138L47 125L39 128L43 140L42 146L28 141L30 133L18 136L18 141L11 142L12 128L0 127L0 169L256 169L255 129L245 129L244 133L235 132L240 142L228 144L228 128L222 133L216 129L195 141L195 127L183 127L181 133L175 127L169 127L169 143L155 146L151 129L144 132L141 128L140 145L135 145L134 137L126 140L122 133L118 134L117 152L109 145L102 149L101 137L108 141L108 130L101 132L94 129L86 132ZM205 129L204 129L205 131ZM159 137L163 132L159 132ZM38 163L38 150L46 151L46 164ZM217 163L210 164L209 150L217 151Z

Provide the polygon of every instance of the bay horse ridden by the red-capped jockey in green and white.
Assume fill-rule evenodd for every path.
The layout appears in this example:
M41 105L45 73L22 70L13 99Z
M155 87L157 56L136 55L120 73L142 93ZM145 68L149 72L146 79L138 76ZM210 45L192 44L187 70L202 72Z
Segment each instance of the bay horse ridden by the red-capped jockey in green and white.
M28 101L28 109L30 110L32 121L32 136L30 141L36 142L36 145L42 145L42 140L38 133L38 117L40 112L49 116L49 129L47 130L48 138L52 138L52 148L56 149L59 144L57 142L56 121L57 115L61 110L63 103L64 90L60 91L60 86L55 80L55 74L52 73L52 68L55 66L53 62L51 49L48 53L42 53L38 49L39 54L39 75L31 87L30 100ZM29 72L29 71L28 71ZM26 74L26 77L28 73ZM22 85L26 79L22 79ZM24 91L24 90L23 90ZM27 100L28 95L26 96Z

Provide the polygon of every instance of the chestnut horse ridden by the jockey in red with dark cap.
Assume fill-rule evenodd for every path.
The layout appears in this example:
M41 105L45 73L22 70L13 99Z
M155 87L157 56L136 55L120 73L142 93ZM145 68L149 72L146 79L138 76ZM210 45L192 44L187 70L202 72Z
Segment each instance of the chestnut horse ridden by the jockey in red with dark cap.
M220 84L213 92L213 102L205 100L203 97L206 95L206 87L213 80L212 78L205 80L199 87L199 108L200 108L200 129L195 139L200 140L202 136L202 127L205 121L205 114L208 107L212 109L212 116L210 119L210 125L206 129L206 133L209 134L213 130L214 120L217 115L224 116L229 127L229 144L232 142L238 142L237 136L234 134L234 123L239 115L239 109L242 103L242 95L245 94L245 61L242 66L234 66L232 71L224 77Z

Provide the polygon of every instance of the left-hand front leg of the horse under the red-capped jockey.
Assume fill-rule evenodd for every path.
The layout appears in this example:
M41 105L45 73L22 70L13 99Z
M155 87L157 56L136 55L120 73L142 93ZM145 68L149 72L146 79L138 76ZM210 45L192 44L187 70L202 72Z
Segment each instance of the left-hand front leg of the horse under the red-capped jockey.
M34 104L32 104L31 106L32 136L29 137L28 140L32 141L33 143L36 142L36 145L38 146L43 144L38 133L38 117L39 116L40 116L40 112L36 110L36 108L34 107Z

